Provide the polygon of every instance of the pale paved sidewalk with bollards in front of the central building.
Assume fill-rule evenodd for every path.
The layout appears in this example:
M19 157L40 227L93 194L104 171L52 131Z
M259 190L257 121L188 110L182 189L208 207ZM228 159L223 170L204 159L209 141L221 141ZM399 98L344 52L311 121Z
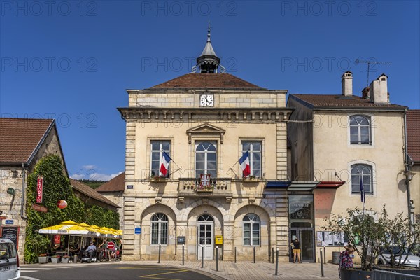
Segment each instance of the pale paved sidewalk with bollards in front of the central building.
M266 280L266 279L291 279L291 280L337 280L338 265L326 264L324 266L324 277L321 277L321 265L319 263L290 263L279 262L279 275L275 274L275 264L269 262L219 262L219 271L216 272L216 261L204 261L204 269L201 268L201 260L188 260L181 265L179 260L158 261L123 261L120 263L136 265L162 265L169 267L185 267L197 272L205 272L214 279L228 280Z

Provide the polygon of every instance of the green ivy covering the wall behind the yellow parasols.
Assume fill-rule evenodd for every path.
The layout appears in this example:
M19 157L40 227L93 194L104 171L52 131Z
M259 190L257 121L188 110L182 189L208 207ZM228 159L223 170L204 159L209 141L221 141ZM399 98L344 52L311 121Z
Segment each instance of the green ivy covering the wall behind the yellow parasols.
M36 181L43 176L43 206L48 208L47 213L32 209L36 201ZM57 202L66 200L67 207L59 209ZM116 211L102 207L85 207L85 204L73 193L69 178L64 173L61 159L58 155L47 155L38 161L34 172L27 179L27 229L25 239L25 262L38 261L39 253L48 250L48 237L39 235L38 230L63 221L72 220L77 223L106 226L118 229L119 215ZM86 214L86 216L85 216ZM93 223L92 223L93 222ZM41 245L38 244L41 241Z

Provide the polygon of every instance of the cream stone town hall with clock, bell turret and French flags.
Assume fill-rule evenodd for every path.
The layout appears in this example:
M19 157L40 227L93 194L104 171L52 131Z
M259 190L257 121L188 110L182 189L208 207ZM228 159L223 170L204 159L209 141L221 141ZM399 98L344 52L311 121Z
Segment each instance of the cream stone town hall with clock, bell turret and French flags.
M127 90L124 260L280 260L289 253L287 90L220 64L210 31L194 73ZM240 160L241 159L241 160ZM247 166L248 165L248 166ZM274 184L275 185L275 184Z

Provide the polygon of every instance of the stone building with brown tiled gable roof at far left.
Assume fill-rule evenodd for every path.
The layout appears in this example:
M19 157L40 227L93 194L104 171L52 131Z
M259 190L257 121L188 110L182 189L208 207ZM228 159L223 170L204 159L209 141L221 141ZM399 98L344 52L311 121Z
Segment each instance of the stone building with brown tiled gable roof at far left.
M20 259L25 249L27 176L38 160L55 154L67 173L55 120L0 118L0 222L13 239Z

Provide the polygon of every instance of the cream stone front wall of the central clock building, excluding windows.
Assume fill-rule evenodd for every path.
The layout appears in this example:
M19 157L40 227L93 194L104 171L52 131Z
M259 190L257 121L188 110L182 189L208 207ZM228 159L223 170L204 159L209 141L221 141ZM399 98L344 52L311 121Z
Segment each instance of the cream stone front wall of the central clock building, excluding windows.
M211 75L211 74L209 74ZM222 74L214 74L222 75ZM215 248L223 260L268 260L272 248L288 260L288 204L286 190L265 188L268 180L287 180L285 90L128 90L129 107L120 109L126 120L124 193L124 260L157 260L159 245L151 237L153 216L167 216L168 241L162 260L180 259L178 237L186 237L186 258L201 258L200 227L210 225L211 248L204 258L214 259ZM213 94L214 106L200 107L200 94ZM170 143L168 179L151 174L151 141ZM196 144L216 143L217 175L208 193L197 190ZM241 141L262 144L262 176L243 179L237 164ZM258 245L244 245L244 217L260 219ZM211 221L200 221L200 217ZM141 234L135 229L141 228ZM209 228L209 229L210 229ZM223 244L216 244L216 237ZM256 242L256 241L255 241Z

